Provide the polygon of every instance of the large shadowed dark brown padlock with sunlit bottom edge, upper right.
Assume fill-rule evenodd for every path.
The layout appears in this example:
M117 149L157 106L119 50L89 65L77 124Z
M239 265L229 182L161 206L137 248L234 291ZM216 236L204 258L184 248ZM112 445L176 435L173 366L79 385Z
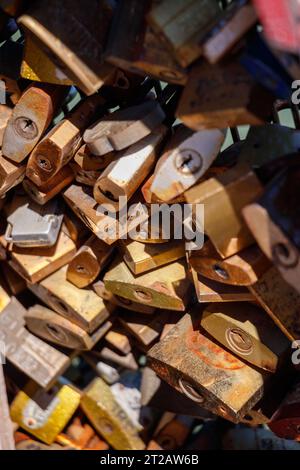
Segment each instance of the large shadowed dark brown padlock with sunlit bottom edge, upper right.
M270 118L273 102L238 63L203 62L193 67L176 115L194 130L256 126Z

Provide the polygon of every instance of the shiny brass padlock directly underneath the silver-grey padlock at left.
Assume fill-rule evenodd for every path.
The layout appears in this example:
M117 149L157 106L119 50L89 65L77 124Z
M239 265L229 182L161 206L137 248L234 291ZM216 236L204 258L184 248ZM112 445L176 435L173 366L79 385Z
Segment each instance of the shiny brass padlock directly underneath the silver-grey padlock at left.
M76 245L61 230L53 247L22 248L13 245L8 253L9 265L26 281L35 283L71 261L76 253Z

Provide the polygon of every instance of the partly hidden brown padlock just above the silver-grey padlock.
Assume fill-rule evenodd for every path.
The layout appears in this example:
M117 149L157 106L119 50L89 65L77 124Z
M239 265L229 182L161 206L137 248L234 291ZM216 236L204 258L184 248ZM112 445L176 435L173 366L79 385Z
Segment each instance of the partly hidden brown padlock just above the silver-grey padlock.
M74 178L75 174L71 166L65 165L43 186L36 186L33 181L25 178L23 180L23 188L33 201L43 206L58 195L66 186L69 186Z

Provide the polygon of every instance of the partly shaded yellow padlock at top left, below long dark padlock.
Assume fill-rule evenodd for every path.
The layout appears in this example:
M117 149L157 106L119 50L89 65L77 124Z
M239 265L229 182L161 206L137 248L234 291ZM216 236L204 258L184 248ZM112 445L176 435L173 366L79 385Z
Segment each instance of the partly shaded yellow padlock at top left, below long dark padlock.
M35 82L55 85L74 85L67 75L55 65L48 54L39 47L30 34L25 33L24 55L20 75Z

